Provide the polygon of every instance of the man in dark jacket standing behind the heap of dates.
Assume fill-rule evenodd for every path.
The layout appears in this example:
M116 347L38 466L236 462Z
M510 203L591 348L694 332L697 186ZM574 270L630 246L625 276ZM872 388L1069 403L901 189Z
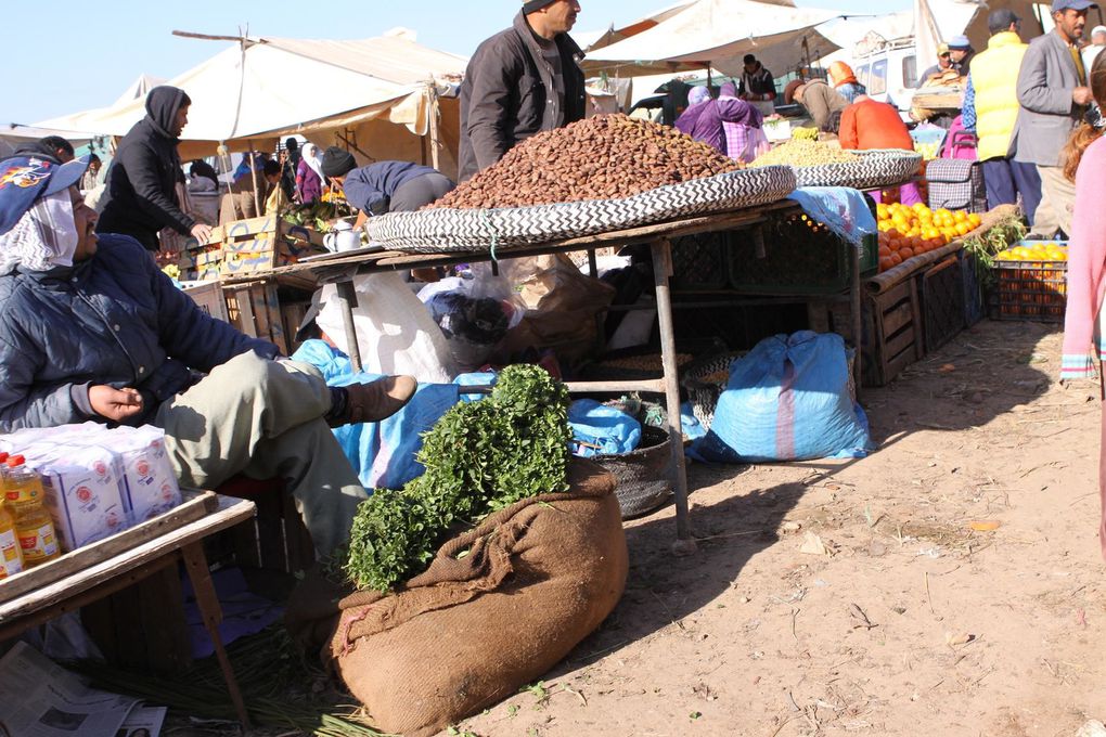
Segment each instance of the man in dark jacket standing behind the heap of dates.
M477 49L461 84L461 181L519 141L584 118L584 52L568 35L578 13L577 0L523 0L512 27Z

